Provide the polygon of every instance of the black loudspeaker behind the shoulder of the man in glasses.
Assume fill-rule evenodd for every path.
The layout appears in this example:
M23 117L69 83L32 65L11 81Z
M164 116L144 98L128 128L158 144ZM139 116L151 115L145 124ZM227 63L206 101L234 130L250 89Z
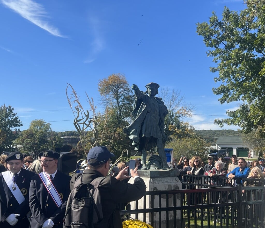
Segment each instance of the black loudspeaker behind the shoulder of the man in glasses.
M69 175L69 173L76 170L76 154L69 152L61 152L59 154L57 167L62 173Z

